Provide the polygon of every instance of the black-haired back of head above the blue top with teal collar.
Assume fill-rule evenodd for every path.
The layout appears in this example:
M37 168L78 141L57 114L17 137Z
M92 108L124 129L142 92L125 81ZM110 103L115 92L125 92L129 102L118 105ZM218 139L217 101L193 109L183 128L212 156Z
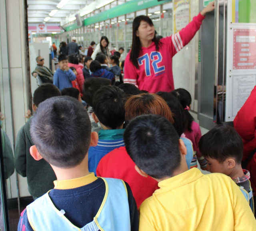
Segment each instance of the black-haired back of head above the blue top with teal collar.
M93 98L93 111L100 123L110 129L124 124L124 93L115 86L101 87Z

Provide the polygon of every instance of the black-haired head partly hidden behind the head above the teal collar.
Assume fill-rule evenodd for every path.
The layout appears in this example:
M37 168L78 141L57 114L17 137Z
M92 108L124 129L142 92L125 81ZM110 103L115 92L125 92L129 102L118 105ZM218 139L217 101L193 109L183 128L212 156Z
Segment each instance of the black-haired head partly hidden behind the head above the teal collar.
M97 92L102 86L108 85L111 85L111 80L108 80L106 78L87 78L86 80L84 80L84 101L92 107L95 92Z

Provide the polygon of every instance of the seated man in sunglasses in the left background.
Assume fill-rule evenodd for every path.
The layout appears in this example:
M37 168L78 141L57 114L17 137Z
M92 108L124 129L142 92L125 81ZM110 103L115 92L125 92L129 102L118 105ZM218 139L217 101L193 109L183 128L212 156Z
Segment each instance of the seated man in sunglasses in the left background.
M39 76L40 80L43 84L53 82L53 73L52 71L44 66L44 58L41 56L36 57L37 66L34 72L32 72L32 76L35 78Z

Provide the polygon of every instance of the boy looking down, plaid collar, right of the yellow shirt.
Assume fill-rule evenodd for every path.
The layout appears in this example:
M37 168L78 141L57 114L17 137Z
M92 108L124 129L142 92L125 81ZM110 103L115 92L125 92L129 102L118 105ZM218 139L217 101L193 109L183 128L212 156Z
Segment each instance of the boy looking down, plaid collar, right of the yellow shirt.
M210 172L231 177L254 213L250 172L242 169L243 141L236 130L228 125L217 125L201 137L199 149L207 160Z

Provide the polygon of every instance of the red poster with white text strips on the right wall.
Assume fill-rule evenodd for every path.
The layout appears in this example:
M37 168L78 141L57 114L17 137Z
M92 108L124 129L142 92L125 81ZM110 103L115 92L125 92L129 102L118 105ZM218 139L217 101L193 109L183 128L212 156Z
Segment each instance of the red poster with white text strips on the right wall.
M256 68L256 29L234 29L233 69Z

